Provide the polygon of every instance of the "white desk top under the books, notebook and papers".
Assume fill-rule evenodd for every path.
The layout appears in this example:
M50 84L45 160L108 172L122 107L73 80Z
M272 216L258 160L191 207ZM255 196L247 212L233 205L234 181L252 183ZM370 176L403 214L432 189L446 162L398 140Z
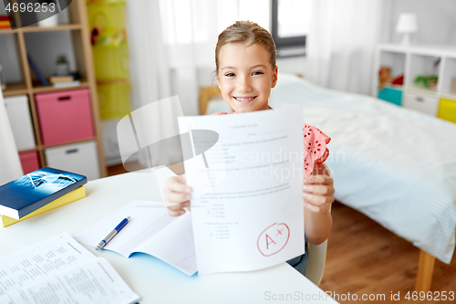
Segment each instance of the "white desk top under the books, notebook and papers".
M153 173L126 173L111 176L86 185L87 197L23 222L0 228L0 256L28 245L67 232L75 236L88 225L119 209L132 200L161 201ZM327 297L293 267L283 263L264 270L246 273L227 273L192 278L145 254L130 258L110 251L88 250L105 257L137 292L141 304L151 303L271 303L271 302L328 302ZM279 300L280 296L289 300ZM318 296L323 296L318 300ZM314 297L308 301L306 297ZM309 299L309 298L307 298Z

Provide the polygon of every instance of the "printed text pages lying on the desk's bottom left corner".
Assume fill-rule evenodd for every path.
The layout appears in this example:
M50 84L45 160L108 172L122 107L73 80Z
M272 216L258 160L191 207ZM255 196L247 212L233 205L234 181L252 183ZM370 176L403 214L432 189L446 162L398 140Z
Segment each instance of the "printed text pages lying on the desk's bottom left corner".
M0 258L0 303L136 303L103 258L62 234Z

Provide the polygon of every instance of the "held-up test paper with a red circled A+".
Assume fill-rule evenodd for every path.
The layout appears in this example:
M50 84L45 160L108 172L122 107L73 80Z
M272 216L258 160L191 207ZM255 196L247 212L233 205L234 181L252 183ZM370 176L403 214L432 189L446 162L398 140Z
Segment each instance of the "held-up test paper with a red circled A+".
M302 121L298 107L179 118L181 133L198 135L184 166L199 274L271 267L304 253Z

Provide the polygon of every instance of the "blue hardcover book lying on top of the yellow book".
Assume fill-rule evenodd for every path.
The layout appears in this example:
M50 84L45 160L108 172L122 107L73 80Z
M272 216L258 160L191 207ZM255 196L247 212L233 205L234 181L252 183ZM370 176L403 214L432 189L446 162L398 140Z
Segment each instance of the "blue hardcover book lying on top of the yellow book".
M20 219L84 183L84 175L41 168L0 186L0 215Z

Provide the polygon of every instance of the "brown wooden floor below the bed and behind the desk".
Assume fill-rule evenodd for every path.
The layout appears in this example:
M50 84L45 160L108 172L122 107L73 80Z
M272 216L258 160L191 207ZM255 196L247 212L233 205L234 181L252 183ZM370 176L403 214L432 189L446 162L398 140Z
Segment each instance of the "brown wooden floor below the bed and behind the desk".
M109 175L125 172L121 164L108 168ZM348 293L350 299L357 295L358 302L432 302L405 299L407 292L411 293L415 288L420 256L418 248L344 204L334 203L332 215L334 225L328 240L325 274L320 288L339 295L338 299L334 298L340 303L355 302L343 300ZM456 258L450 265L436 260L431 290L446 291L447 294L453 291L455 300L435 302L456 303ZM391 293L397 295L398 292L399 300L391 300ZM385 300L362 301L364 294L376 298L385 295Z

